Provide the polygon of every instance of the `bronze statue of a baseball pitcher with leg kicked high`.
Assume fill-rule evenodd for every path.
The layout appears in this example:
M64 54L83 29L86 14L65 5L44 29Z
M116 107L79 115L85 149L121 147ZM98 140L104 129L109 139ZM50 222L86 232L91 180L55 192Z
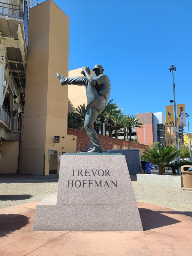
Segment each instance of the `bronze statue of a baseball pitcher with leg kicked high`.
M57 77L59 78L61 85L85 85L88 109L85 116L84 128L94 146L93 149L88 152L100 153L103 152L103 149L98 140L97 133L93 128L93 123L105 108L105 104L109 99L111 84L108 76L103 74L104 69L101 65L95 65L93 71L95 71L96 78L90 76L91 70L88 67L84 67L81 70L81 74L84 74L85 77L65 77L59 73L57 73Z

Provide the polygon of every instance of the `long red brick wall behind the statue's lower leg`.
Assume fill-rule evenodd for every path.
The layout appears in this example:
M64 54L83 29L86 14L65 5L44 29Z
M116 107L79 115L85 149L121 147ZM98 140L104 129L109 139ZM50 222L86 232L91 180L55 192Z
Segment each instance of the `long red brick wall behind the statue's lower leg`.
M87 143L89 140L87 133L84 131L68 128L67 133L69 135L77 136L77 150L86 150ZM140 143L135 143L127 140L115 139L103 135L98 134L98 139L102 145L103 149L141 149L141 151L145 151L145 149L149 149L149 146L143 145Z

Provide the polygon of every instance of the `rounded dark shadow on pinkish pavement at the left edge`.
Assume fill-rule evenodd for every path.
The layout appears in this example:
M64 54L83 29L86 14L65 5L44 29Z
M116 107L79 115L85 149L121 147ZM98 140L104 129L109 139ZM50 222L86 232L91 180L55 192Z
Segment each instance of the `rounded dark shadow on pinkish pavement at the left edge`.
M25 227L29 223L29 219L21 214L0 214L0 237Z

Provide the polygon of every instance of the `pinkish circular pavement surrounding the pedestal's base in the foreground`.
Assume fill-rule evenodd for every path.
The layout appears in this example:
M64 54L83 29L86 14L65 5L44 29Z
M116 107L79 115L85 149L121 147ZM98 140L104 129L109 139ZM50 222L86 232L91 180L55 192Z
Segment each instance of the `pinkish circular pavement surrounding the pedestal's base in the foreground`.
M143 231L33 231L37 203L0 210L1 256L192 256L192 216L182 212L137 202Z

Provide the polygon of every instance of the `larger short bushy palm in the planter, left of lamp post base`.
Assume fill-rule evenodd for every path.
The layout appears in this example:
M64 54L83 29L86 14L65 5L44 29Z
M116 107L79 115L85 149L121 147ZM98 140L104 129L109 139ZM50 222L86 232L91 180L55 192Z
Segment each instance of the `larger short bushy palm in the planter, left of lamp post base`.
M180 151L176 147L150 148L143 153L142 160L159 165L159 174L165 174L165 166L173 161Z

